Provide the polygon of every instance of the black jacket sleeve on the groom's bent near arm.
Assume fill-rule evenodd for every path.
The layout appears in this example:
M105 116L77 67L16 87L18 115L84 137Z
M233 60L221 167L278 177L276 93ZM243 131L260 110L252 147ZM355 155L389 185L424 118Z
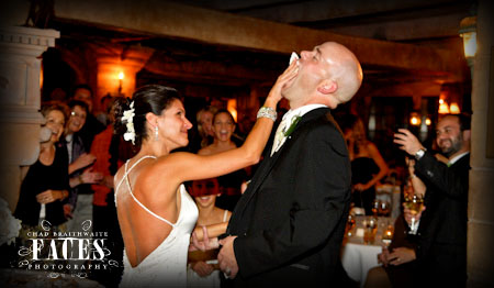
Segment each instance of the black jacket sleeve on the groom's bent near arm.
M296 157L292 209L274 229L239 235L234 241L243 277L287 265L324 246L348 207L351 173L340 133L324 124L299 136L303 139L299 140L303 141L302 148L290 152Z

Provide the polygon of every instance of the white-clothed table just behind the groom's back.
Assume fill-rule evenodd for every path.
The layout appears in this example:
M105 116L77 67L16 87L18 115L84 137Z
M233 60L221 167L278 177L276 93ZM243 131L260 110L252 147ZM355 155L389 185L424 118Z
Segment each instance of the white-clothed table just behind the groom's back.
M356 226L353 231L362 229L362 222L366 217L356 217ZM369 269L379 265L378 254L382 251L381 235L389 223L392 223L391 218L378 218L378 231L373 244L363 244L363 239L358 233L353 232L351 236L345 236L341 246L341 264L348 276L360 283L363 287Z

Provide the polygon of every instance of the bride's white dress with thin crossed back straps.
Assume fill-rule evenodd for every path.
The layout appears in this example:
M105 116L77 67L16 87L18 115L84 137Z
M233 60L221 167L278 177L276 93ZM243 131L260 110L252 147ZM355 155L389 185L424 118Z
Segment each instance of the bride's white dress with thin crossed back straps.
M136 267L132 267L128 262L126 252L124 250L124 273L120 287L186 287L187 286L187 254L190 243L190 234L195 226L198 220L198 208L193 199L189 196L186 187L180 185L181 208L180 214L176 223L157 215L147 209L132 192L128 182L128 173L144 158L154 158L153 156L144 156L138 159L128 170L127 163L125 163L125 175L122 181L125 180L132 198L153 217L161 220L168 225L171 225L170 234L147 255ZM115 204L116 193L122 181L115 189Z

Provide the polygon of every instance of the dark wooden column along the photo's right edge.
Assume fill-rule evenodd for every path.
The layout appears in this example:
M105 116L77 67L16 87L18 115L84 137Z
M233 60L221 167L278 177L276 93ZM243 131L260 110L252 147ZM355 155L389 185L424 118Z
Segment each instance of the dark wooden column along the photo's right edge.
M472 84L472 141L468 223L468 287L494 284L494 4L480 0Z

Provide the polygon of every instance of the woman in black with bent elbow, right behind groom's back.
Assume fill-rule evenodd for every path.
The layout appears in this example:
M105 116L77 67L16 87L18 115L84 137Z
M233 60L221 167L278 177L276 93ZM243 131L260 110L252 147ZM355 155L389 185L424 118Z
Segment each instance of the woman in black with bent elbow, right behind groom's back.
M352 114L343 121L345 140L351 160L352 202L372 214L375 185L388 175L388 165L374 143L366 135L362 121Z

